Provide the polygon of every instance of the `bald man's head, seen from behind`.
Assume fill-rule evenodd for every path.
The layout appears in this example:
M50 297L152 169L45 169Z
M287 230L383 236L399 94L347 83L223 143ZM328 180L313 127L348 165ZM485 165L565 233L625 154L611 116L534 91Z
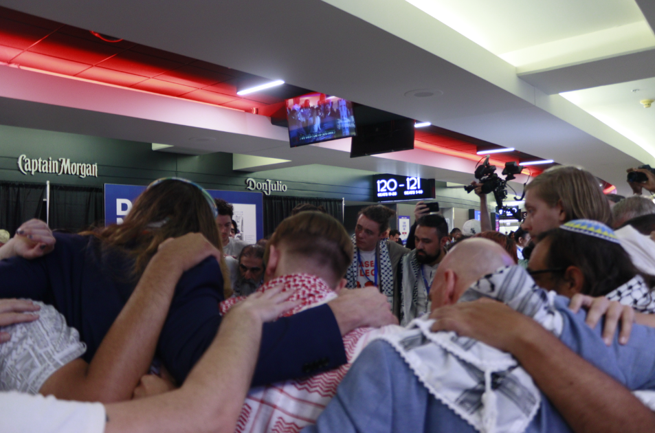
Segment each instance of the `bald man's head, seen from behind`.
M507 251L484 238L458 243L441 261L430 289L432 308L454 304L471 285L504 266L515 265Z

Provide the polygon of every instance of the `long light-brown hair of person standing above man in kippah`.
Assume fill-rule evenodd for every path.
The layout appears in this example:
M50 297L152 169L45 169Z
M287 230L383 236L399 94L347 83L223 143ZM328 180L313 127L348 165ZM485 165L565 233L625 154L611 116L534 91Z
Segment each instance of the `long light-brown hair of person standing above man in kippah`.
M584 168L555 166L535 177L526 187L555 207L562 203L566 221L593 219L610 225L612 212L598 180ZM564 222L566 222L564 221Z

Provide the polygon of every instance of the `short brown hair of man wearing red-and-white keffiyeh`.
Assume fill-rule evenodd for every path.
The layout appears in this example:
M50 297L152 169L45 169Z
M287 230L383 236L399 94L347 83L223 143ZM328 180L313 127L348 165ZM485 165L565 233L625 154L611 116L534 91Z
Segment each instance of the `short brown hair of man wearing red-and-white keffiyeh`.
M284 245L287 254L329 263L337 281L353 261L353 241L346 229L322 212L300 212L282 221L266 244L264 263L268 262L271 245Z

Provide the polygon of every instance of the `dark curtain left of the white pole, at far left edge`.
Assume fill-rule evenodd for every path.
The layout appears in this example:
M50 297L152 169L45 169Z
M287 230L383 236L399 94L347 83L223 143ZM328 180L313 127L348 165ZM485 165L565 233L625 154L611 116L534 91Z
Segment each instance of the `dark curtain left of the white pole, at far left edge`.
M45 184L0 182L0 229L10 236L25 221L40 218L45 221Z

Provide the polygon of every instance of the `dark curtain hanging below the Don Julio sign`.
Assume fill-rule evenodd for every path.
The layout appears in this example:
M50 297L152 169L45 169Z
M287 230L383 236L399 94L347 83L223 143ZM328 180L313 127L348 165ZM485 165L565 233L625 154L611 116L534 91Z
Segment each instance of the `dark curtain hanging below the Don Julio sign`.
M344 222L344 201L342 199L318 199L308 197L264 196L264 236L275 232L278 224L291 215L291 210L300 203L323 206L329 215Z

